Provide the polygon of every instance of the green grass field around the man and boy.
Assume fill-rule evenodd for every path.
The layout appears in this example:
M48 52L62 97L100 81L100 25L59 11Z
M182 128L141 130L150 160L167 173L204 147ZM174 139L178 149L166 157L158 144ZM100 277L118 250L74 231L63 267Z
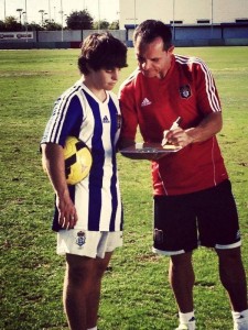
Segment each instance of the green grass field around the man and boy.
M233 182L248 271L248 47L177 48L203 58L219 90L219 142ZM51 231L53 191L41 168L39 143L56 97L77 78L78 51L0 52L0 329L67 329L62 307L64 258ZM121 79L134 68L133 51ZM118 90L118 86L115 89ZM151 253L149 162L118 155L125 205L125 246L103 283L100 330L170 330L177 324L168 258ZM230 330L215 253L194 253L198 330Z

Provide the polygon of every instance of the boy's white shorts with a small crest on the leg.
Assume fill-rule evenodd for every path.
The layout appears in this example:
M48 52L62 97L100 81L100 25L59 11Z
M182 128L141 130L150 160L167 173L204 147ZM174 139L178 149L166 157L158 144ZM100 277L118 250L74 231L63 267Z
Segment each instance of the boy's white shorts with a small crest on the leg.
M116 248L122 246L122 231L61 230L57 233L57 254L69 253L104 258L106 252L112 252Z

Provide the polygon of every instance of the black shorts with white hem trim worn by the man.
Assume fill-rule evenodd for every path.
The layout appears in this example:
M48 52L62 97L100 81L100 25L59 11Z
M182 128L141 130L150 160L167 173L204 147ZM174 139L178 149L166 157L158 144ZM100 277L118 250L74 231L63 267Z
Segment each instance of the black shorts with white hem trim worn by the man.
M231 249L240 245L237 208L229 180L179 196L154 196L154 246L180 254L198 245Z

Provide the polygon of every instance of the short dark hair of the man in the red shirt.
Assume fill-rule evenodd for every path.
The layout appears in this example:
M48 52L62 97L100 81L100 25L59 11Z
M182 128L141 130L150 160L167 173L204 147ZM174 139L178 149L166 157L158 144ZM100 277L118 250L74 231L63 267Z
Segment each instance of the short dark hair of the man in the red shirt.
M161 21L147 20L138 25L133 33L133 43L136 44L138 36L141 37L141 43L149 44L155 37L160 36L163 40L164 51L172 46L172 32L169 25Z

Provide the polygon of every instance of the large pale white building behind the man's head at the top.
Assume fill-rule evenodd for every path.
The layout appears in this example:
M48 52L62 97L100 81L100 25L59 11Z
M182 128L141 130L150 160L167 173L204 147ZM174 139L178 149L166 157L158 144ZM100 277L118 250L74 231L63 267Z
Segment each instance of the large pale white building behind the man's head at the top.
M166 24L248 22L248 0L119 0L120 29L148 19Z

